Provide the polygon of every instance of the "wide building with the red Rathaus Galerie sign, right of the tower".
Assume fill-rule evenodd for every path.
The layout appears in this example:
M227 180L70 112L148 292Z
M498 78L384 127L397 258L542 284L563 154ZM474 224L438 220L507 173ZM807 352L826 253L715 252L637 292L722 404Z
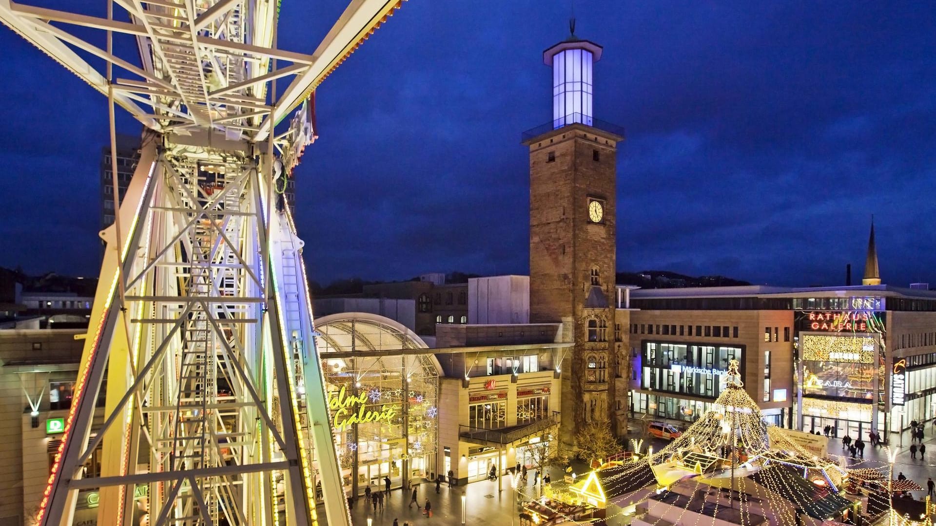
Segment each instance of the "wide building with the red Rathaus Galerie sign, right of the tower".
M635 416L693 421L731 358L778 425L885 436L936 416L936 291L732 286L631 298Z

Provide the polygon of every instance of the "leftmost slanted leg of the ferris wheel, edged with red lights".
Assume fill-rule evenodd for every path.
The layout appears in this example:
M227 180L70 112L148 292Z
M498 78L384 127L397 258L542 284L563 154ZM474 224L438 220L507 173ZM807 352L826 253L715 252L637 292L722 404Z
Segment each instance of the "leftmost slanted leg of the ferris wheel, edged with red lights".
M144 147L133 179L127 187L123 206L118 212L128 229L125 254L136 254L144 224L134 221L135 217L145 217L153 195L151 177L156 164L156 147L151 144ZM114 330L120 322L120 299L117 279L120 267L116 239L111 226L102 233L107 242L104 261L95 291L95 302L88 324L88 337L84 340L81 353L78 380L75 384L71 410L66 418L66 428L62 436L56 460L52 463L49 483L39 504L36 522L43 525L71 524L78 498L78 489L70 488L73 479L81 476L80 460L85 453L91 435L95 406L100 393L101 382L107 370L110 358L110 346ZM122 274L125 275L133 264L134 258L124 261Z

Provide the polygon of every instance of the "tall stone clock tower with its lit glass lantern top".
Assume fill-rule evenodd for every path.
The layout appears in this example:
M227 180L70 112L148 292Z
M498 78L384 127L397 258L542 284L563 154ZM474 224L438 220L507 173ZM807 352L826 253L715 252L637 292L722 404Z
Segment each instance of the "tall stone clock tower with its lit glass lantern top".
M563 324L561 430L613 421L616 154L622 129L592 116L592 65L602 47L573 34L543 52L552 67L552 121L523 134L530 149L530 321ZM626 353L625 353L626 354ZM612 429L620 432L620 422ZM626 423L624 424L626 426ZM626 427L624 427L626 431Z

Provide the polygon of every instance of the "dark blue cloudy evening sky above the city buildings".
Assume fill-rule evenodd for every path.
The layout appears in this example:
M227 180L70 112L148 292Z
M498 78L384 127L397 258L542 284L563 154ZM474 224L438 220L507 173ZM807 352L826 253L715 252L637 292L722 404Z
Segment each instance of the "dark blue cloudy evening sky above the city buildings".
M285 0L280 47L312 52L344 5ZM936 285L931 3L576 11L605 48L595 117L628 136L619 270L840 285L846 263L860 277L874 213L885 283ZM541 53L568 15L568 0L409 0L322 84L296 172L312 279L527 271L519 134L551 118ZM0 266L95 275L107 100L6 27L0 49Z

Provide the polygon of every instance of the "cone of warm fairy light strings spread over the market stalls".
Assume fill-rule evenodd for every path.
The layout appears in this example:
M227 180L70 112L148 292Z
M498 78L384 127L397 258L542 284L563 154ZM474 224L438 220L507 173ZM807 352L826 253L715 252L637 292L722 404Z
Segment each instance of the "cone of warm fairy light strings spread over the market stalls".
M601 484L606 488L617 484L626 483L629 480L638 478L641 470L661 464L668 463L667 467L672 466L675 460L676 465L686 457L687 454L700 453L709 457L715 457L722 462L722 468L716 472L722 473L725 459L725 448L734 449L732 455L739 455L741 451L746 458L741 460L740 456L734 460L736 469L742 469L739 476L732 475L732 483L728 488L722 488L713 480L706 480L707 476L700 475L690 479L681 478L674 480L663 488L652 489L651 486L645 486L642 489L636 489L633 494L645 491L647 494L631 505L624 506L621 511L606 515L605 521L610 521L618 516L627 515L627 508L638 504L652 504L651 497L659 495L657 500L663 501L658 505L669 505L676 507L672 500L667 499L668 492L674 492L677 485L680 486L680 499L685 502L681 506L680 517L675 520L677 524L690 524L697 522L701 518L701 513L695 514L695 521L686 521L683 516L689 512L692 504L697 503L699 489L703 489L705 495L702 498L705 504L711 507L710 515L717 517L719 513L724 514L726 509L734 509L740 518L740 524L755 524L761 521L761 517L768 519L772 524L793 524L796 521L797 508L803 503L812 502L814 495L812 488L807 485L790 485L785 477L790 476L789 470L769 469L770 466L786 465L795 469L795 476L803 476L811 484L820 481L830 493L844 490L845 484L851 480L883 480L885 476L892 477L887 468L892 465L887 462L876 460L857 460L854 461L849 469L841 467L848 465L844 456L829 454L824 458L814 455L811 451L794 442L785 431L773 425L768 425L761 417L757 403L743 389L738 373L738 362L732 360L729 365L728 374L724 377L726 381L725 389L722 395L714 402L711 409L701 416L695 423L684 431L680 437L673 440L669 445L659 451L648 450L648 454L642 458L631 462L623 463L620 471L614 475L605 475L602 477ZM735 445L737 444L737 448ZM638 449L639 446L636 447ZM751 472L750 468L757 466L758 481L748 478ZM690 475L694 470L691 466L682 465L686 475ZM697 471L695 473L698 473ZM654 472L656 475L656 472ZM661 483L662 484L662 483ZM724 484L722 482L721 484ZM691 489L691 490L687 490ZM716 497L709 500L709 491L715 489ZM724 504L723 490L729 489L728 504ZM792 492L792 494L791 494ZM557 500L563 500L566 494L554 492ZM787 495L784 497L783 495ZM565 519L573 519L563 514L563 508L549 506L547 500L542 500L540 505L546 507L550 512L563 516ZM681 502L681 501L676 501ZM797 504L799 503L799 504ZM607 511L607 508L606 508ZM802 510L798 511L802 513ZM890 512L893 514L893 510ZM671 513L665 514L666 523L673 523ZM757 516L755 519L753 516ZM831 518L828 518L831 519ZM580 520L580 519L579 519ZM644 516L641 520L648 524L657 524L662 517L654 518L651 514ZM895 518L895 523L903 523L906 518ZM909 524L909 523L908 523ZM931 526L929 519L915 521L914 524L924 524Z

